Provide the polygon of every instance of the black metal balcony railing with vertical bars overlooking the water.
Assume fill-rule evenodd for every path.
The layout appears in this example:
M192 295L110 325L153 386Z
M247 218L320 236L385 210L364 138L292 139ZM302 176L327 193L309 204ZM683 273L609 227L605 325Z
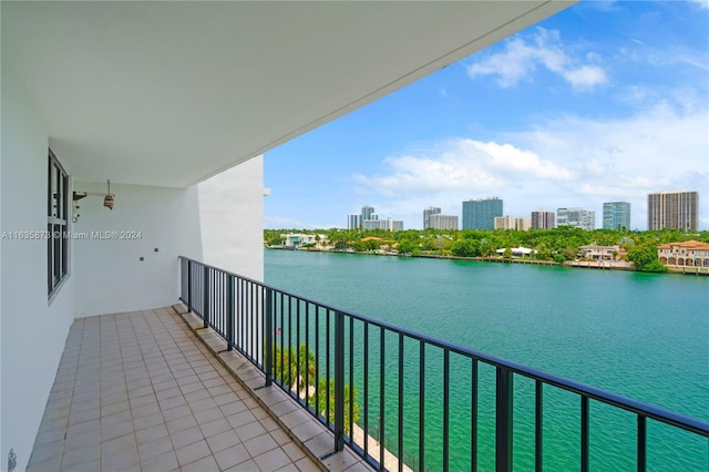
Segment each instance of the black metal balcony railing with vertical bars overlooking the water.
M668 430L655 423L671 427L672 434L689 434L681 441L689 441L703 454L703 459L690 459L709 461L707 421L335 308L186 257L181 257L181 300L204 320L205 328L224 337L228 349L236 349L260 369L267 386L281 388L332 431L333 452L348 445L378 470L475 471L494 464L497 471L511 471L513 456L525 449L528 468L541 471L545 455L549 460L545 432L548 437L549 429L566 428L574 438L566 447L573 450L573 468L588 471L592 455L604 454L596 451L602 442L592 448L592 404L594 418L617 417L618 411L630 415L631 427L618 435L630 438L635 449L630 460L638 471L648 468L648 420L656 435L666 435ZM572 403L569 408L568 398L557 404L558 392L575 397L571 401L578 401L576 407ZM514 421L515 407L521 406L533 411L533 418ZM526 433L518 431L525 429ZM703 466L709 465L705 462Z

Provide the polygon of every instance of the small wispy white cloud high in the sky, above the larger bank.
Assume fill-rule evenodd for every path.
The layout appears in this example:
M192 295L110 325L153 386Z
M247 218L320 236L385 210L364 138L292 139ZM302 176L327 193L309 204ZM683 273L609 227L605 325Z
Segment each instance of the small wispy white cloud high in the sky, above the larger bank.
M502 52L470 64L467 74L472 79L496 75L500 86L510 88L524 78L531 79L537 66L544 66L575 90L588 91L608 82L606 72L596 65L599 61L600 57L595 52L586 53L583 60L572 58L564 49L558 31L537 28L532 41L521 35L505 41Z

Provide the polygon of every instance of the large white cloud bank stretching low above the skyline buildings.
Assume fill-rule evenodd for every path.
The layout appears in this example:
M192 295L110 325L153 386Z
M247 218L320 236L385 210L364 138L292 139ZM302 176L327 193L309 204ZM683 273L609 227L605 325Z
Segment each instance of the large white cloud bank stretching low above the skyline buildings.
M647 194L709 188L709 116L658 103L616 120L566 116L481 142L450 140L415 155L387 157L380 175L352 176L377 209L420 225L429 205L460 215L464 199L499 196L505 214L583 206L602 215L603 202L633 206L633 227L647 226ZM700 218L709 217L700 205ZM449 209L445 209L449 208ZM411 223L409 223L411 222ZM598 226L600 220L598 220Z

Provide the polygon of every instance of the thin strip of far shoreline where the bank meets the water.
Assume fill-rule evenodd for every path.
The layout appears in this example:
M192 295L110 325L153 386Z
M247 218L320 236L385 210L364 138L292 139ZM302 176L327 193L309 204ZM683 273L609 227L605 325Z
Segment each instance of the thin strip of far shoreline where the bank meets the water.
M635 270L631 263L624 263L618 260L567 260L564 263L555 263L552 260L535 260L535 259L507 259L503 257L462 257L462 256L443 256L436 254L422 254L418 256L401 255L391 253L364 253L357 250L333 250L333 249L317 249L305 248L296 249L292 247L278 247L278 246L264 246L265 249L275 250L305 250L310 253L332 253L332 254L357 254L363 256L388 256L388 257L418 257L423 259L450 259L450 260L472 260L480 263L495 263L495 264L523 264L533 266L557 266L557 267L571 267L583 269L596 269L596 270L625 270L625 271L639 271ZM689 270L688 270L689 269ZM702 270L703 269L703 270ZM679 274L688 276L709 276L709 267L697 266L684 266L684 267L667 267L666 273L653 273L653 274Z

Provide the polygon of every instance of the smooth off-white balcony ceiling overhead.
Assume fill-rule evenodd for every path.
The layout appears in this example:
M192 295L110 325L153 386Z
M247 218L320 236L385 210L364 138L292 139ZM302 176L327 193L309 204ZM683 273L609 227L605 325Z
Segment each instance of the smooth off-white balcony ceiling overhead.
M2 69L73 175L184 187L571 3L2 1Z

